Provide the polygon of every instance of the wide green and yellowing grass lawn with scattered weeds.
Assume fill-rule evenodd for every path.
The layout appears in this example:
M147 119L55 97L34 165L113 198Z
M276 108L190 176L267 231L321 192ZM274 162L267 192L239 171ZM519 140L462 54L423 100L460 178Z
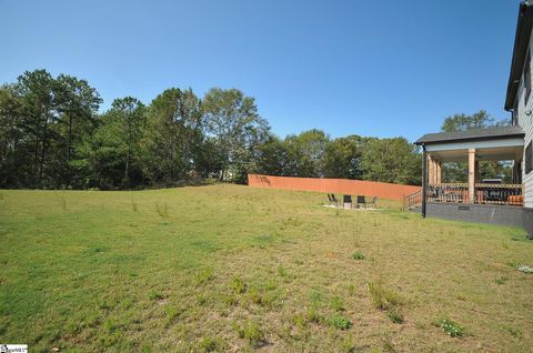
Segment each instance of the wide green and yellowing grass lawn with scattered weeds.
M533 274L515 266L533 265L533 242L522 230L325 200L238 185L0 191L0 342L531 352Z

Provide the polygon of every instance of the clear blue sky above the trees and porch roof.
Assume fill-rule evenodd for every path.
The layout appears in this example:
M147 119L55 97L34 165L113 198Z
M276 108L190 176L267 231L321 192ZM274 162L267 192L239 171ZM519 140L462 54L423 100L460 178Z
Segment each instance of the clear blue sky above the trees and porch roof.
M503 110L519 1L0 0L0 82L44 68L104 99L238 88L274 133L438 131Z

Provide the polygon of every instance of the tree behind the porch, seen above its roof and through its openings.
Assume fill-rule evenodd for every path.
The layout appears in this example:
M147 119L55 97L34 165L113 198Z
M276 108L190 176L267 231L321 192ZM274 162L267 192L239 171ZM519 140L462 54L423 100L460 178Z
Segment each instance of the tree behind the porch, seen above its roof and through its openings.
M444 132L465 131L473 129L489 129L495 127L509 125L509 120L496 120L489 115L486 111L466 114L454 114L444 119L441 130ZM444 163L443 182L467 182L469 173L466 163ZM509 161L481 161L479 165L480 179L502 178L505 182L511 182L512 164Z

